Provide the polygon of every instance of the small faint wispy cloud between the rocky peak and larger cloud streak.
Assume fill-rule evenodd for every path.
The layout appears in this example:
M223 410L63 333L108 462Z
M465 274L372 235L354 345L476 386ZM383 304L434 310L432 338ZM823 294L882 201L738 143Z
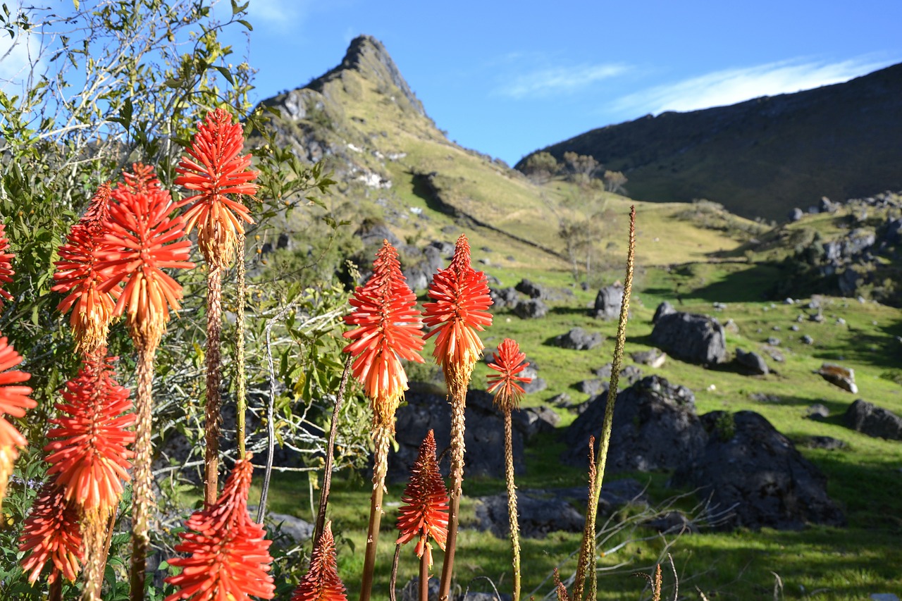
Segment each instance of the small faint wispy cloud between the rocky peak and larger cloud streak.
M518 100L573 93L591 86L596 81L621 75L629 69L627 65L621 63L538 69L507 79L495 88L493 93Z

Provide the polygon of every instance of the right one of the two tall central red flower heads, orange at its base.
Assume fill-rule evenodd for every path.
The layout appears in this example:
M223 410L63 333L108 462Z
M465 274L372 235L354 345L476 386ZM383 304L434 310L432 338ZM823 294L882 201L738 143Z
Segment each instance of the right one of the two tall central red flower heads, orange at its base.
M428 295L434 302L423 305L423 321L432 328L426 337L436 337L436 362L446 375L469 374L483 352L476 332L492 325L492 298L485 273L470 264L470 245L463 234L451 264L433 276Z

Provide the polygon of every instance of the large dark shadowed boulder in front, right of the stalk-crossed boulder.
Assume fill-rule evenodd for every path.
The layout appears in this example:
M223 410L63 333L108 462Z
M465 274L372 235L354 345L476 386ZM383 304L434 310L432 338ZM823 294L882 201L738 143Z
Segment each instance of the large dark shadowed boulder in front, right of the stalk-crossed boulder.
M671 484L697 488L720 527L798 529L845 524L826 493L826 477L787 437L754 411L702 416L707 444L676 468Z

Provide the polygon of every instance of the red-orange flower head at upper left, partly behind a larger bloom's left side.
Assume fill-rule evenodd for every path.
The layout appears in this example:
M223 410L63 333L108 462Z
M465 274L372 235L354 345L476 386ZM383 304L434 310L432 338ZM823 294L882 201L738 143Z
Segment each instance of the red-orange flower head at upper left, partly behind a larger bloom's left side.
M97 190L85 216L69 231L66 244L60 246L60 260L53 273L56 283L51 290L66 294L57 309L62 313L72 309L69 324L76 350L85 354L106 343L115 300L122 293L118 286L108 292L99 290L105 276L97 269L97 249L105 238L110 194L109 182Z

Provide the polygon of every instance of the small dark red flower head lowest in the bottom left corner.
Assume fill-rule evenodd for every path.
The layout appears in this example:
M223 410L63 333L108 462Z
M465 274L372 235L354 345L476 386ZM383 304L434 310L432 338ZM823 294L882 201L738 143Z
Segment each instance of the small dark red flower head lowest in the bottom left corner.
M60 578L75 581L83 559L81 529L78 511L66 502L56 478L52 477L41 487L32 505L32 513L25 518L19 550L25 553L22 569L31 571L29 582L41 576L41 570L51 561L48 582Z

